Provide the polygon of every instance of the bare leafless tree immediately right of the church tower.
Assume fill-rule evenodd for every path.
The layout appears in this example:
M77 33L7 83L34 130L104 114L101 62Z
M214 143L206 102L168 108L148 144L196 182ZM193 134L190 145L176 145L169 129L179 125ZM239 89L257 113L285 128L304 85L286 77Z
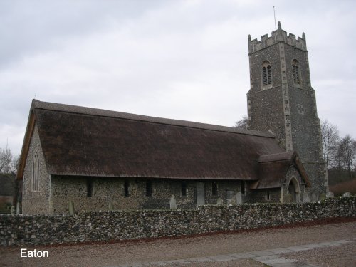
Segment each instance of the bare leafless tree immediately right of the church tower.
M335 125L332 125L328 120L323 120L321 123L321 137L323 140L323 157L326 166L333 167L333 163L337 162L337 142L339 142L339 131ZM330 158L332 158L330 160ZM333 162L334 161L334 162Z

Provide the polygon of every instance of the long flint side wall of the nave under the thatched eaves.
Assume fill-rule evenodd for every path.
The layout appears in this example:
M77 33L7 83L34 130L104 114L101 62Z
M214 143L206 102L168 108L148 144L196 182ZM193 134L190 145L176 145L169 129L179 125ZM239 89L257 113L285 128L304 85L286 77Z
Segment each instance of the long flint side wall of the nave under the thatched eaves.
M92 196L87 195L87 180L91 180ZM227 197L241 192L241 181L204 181L180 179L150 179L152 196L146 196L147 179L126 179L130 183L129 197L125 197L125 179L116 177L70 177L51 176L51 211L54 214L69 212L69 201L74 212L111 209L169 209L169 201L174 195L177 209L197 207L196 183L204 182L205 204L216 204L220 198L229 204ZM182 196L182 181L186 182L187 194ZM216 182L216 194L212 192L212 182ZM229 191L229 196L226 196ZM241 198L245 201L244 196Z

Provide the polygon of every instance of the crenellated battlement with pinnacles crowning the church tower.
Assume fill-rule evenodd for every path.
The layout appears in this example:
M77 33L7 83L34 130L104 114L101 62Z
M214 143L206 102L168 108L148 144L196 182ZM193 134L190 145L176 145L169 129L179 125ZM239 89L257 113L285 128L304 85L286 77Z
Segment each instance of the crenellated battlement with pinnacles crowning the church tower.
M286 31L282 30L281 22L278 21L278 29L272 31L271 37L269 37L268 34L265 34L261 36L261 41L258 41L257 39L251 40L251 36L248 36L248 53L254 53L268 46L273 46L278 42L288 43L290 46L307 51L305 33L303 33L302 37L298 38L295 38L293 33L289 33L288 35Z

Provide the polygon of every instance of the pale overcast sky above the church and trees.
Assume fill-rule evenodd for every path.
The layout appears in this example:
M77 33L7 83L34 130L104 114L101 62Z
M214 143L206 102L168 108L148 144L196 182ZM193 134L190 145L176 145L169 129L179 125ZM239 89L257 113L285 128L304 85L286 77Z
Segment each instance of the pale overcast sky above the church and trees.
M247 38L305 32L318 115L356 138L356 1L0 0L0 147L31 100L232 126Z

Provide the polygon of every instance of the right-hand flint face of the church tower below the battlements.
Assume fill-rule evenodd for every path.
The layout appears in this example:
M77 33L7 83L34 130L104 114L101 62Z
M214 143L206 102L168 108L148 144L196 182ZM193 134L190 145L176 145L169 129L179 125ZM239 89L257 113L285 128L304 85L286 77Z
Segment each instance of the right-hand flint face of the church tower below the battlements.
M317 114L315 90L310 85L308 52L286 46L287 75L290 97L290 118L293 149L298 152L308 174L312 188L307 189L310 199L318 200L327 192L325 162L321 144L320 120ZM300 85L295 85L292 61L297 59L300 67Z

